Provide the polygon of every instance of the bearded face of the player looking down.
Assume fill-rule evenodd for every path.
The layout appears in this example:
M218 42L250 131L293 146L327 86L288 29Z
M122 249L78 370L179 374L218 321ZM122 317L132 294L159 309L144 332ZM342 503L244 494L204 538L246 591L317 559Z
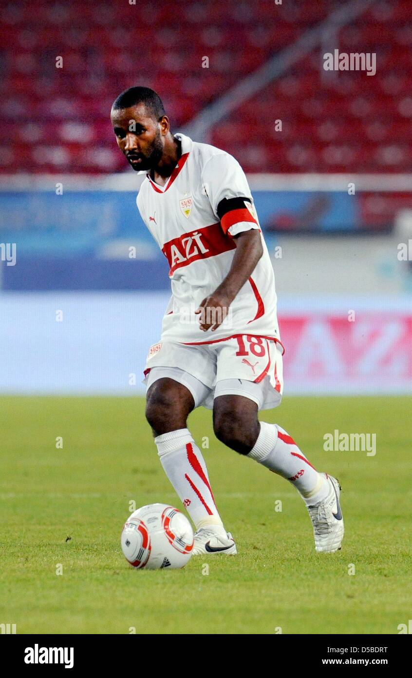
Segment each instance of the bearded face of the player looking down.
M168 130L168 119L164 115L155 120L144 104L120 108L111 113L114 134L120 151L136 170L154 169L163 155L164 134Z

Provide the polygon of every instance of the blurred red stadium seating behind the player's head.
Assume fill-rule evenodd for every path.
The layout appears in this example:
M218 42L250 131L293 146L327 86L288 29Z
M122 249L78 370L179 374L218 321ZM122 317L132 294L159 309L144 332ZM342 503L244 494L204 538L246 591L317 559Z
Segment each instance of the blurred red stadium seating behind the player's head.
M28 142L39 172L121 169L108 117L120 90L154 87L178 129L331 9L329 0L8 3L0 172L24 171ZM336 41L341 52L375 52L376 74L324 71L322 45L216 124L212 143L250 172L409 172L412 3L378 1Z

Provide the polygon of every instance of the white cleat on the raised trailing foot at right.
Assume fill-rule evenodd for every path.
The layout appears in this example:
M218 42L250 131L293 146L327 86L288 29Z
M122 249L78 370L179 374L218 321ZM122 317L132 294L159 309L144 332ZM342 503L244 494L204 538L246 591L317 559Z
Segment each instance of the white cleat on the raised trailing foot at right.
M313 524L316 551L334 553L338 551L344 536L344 522L340 510L340 484L336 478L322 473L329 483L329 494L326 499L308 506L308 512Z

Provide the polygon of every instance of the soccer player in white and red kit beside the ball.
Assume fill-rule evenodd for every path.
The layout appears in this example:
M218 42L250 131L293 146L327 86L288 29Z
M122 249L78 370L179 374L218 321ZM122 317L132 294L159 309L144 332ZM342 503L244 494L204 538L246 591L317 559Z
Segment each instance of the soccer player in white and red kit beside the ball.
M237 553L187 428L200 405L213 410L219 440L296 487L316 551L337 551L344 534L338 481L318 473L281 426L258 420L258 410L281 401L283 346L273 268L242 167L219 148L173 135L147 87L122 92L111 118L127 161L147 172L137 207L170 265L161 340L147 356L146 417L196 525L193 554Z

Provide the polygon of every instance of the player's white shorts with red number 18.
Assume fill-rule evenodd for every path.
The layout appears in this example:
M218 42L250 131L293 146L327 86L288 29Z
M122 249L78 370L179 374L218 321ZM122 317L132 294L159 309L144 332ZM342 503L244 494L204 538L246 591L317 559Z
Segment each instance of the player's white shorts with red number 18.
M242 395L259 410L277 407L283 393L283 348L250 334L210 344L159 342L150 347L145 367L147 389L163 377L186 386L195 407L212 410L219 395Z

